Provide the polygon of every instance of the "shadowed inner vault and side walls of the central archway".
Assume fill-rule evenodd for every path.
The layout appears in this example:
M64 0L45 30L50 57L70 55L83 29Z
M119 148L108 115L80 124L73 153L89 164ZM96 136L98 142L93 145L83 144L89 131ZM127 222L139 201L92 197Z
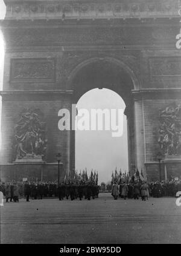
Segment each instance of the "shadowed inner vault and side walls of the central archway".
M81 97L88 95L87 92L95 88L107 88L112 90L125 103L124 114L127 116L127 148L129 158L129 171L135 168L135 124L133 111L132 90L136 88L138 81L135 74L127 65L112 57L95 57L79 64L69 77L67 88L73 91L72 103L77 104ZM101 91L101 90L100 90ZM98 91L97 91L98 92ZM87 93L87 94L86 94ZM95 93L96 95L96 93ZM87 96L88 97L88 96ZM105 97L105 96L103 96ZM101 96L100 96L101 98ZM85 98L84 98L85 99ZM98 99L90 96L93 102ZM107 94L107 105L113 102L112 97ZM83 98L82 98L83 100ZM99 100L100 102L103 102ZM81 102L81 100L80 100ZM87 103L87 102L86 102ZM79 103L78 103L79 104ZM119 105L119 104L118 104ZM84 142L85 145L86 142ZM71 133L70 169L75 168L75 131ZM77 148L77 146L76 146ZM94 146L92 146L92 151ZM77 154L77 153L76 153ZM76 155L77 156L77 155ZM121 152L119 154L121 162ZM101 159L100 162L102 162ZM126 161L125 161L126 162ZM121 167L121 165L119 165ZM111 170L110 170L111 171Z

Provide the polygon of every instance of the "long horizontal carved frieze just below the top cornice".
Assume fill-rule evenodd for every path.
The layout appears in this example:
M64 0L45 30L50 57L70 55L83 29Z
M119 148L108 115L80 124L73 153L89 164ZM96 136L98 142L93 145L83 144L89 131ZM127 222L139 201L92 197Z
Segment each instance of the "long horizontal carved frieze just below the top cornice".
M32 25L32 24L31 24ZM47 24L48 25L48 24ZM9 28L4 30L7 47L61 46L61 45L153 45L173 44L177 29L163 28L162 38L155 39L152 28L147 27L60 27L60 28ZM166 30L166 31L165 31ZM166 33L167 32L167 33ZM133 36L134 35L134 36ZM164 36L167 38L164 39Z

